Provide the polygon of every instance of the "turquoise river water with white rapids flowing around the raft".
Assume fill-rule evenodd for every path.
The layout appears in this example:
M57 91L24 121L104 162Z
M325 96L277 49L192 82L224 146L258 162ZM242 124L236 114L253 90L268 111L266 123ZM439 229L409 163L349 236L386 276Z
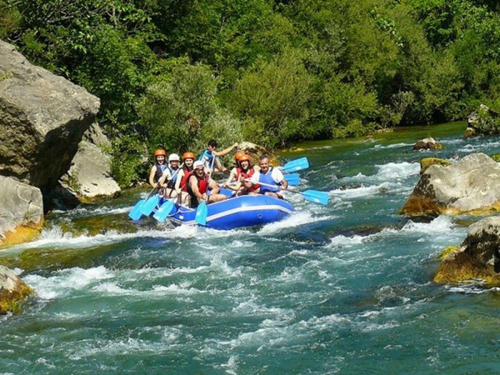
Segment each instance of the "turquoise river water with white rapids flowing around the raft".
M497 289L431 282L471 216L396 211L424 156L500 152L463 124L299 144L328 206L231 231L131 225L144 192L56 212L0 252L36 290L0 317L0 373L498 373ZM443 151L413 151L438 137Z

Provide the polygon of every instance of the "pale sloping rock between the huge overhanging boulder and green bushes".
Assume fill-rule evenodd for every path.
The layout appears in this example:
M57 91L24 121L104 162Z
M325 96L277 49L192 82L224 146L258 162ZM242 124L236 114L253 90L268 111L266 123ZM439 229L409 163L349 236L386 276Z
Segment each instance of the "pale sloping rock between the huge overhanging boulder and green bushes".
M115 196L121 190L110 175L111 158L97 145L82 140L60 184L81 202Z

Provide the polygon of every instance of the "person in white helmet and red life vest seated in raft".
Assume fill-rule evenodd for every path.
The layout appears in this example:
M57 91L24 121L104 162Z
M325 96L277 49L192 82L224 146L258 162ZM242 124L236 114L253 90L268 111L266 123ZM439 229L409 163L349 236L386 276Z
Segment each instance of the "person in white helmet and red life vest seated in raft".
M227 198L224 194L218 193L219 187L217 182L209 179L201 160L196 160L192 166L193 170L189 173L187 180L187 192L191 197L191 207L197 207L203 200L206 200L208 204ZM208 190L210 190L210 196L206 194Z

